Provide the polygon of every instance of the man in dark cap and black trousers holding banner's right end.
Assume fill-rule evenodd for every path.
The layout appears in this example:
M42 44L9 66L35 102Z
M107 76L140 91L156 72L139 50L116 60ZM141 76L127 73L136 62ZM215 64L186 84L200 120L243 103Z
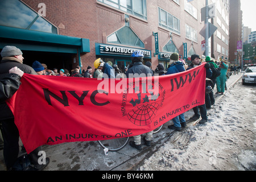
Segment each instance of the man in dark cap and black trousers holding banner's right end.
M199 55L191 55L191 61L192 61L192 63L191 63L191 65L189 65L187 70L201 65ZM207 78L212 77L212 71L210 70L210 64L206 63L204 65L204 67L206 68L206 77ZM205 96L203 96L203 97L205 97ZM206 108L205 104L193 107L193 111L194 111L195 115L193 115L193 117L189 118L189 120L194 121L194 120L197 120L200 118L199 109L200 109L200 114L202 117L202 119L201 119L201 121L199 121L199 123L207 122L208 117L207 117L207 108Z

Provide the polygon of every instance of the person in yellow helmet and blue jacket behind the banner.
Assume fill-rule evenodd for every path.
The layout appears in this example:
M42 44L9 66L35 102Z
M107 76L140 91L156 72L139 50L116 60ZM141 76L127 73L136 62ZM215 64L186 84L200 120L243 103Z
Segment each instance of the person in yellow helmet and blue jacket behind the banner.
M101 58L94 61L94 67L100 69L104 73L102 78L115 78L114 68L108 63L105 63Z

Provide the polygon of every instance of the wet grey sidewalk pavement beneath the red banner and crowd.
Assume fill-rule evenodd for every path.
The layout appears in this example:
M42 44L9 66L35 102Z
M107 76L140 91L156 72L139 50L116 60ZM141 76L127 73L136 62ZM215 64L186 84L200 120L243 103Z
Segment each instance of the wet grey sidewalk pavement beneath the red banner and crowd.
M229 90L240 78L242 73L232 75L226 81L226 86ZM217 92L216 86L214 87L214 98L216 103L225 96L215 94ZM193 110L185 113L185 119L192 117ZM126 171L133 170L135 166L147 159L148 156L154 154L160 146L166 142L170 136L171 130L167 128L172 121L164 124L162 130L154 134L152 146L146 147L143 145L143 150L138 151L127 144L124 148L117 152L109 152L108 155L104 154L103 148L97 141L92 142L69 142L53 146L43 146L43 151L50 159L50 163L44 171ZM189 127L189 125L188 125ZM21 144L21 142L20 142ZM22 155L22 154L20 154ZM5 171L5 163L3 161L3 150L0 150L0 171Z

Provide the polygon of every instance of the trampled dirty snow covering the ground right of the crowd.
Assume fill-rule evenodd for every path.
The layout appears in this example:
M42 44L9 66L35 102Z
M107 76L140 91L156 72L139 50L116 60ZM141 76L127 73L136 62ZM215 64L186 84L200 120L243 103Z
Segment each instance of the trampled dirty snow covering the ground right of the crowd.
M208 110L207 123L175 131L138 169L256 170L255 108L256 86L238 81Z

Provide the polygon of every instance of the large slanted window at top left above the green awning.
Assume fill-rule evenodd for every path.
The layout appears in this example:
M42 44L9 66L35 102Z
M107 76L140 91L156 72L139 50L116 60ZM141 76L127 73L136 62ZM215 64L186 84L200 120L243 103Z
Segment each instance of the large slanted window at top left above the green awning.
M0 25L57 34L57 28L18 0L0 1Z

